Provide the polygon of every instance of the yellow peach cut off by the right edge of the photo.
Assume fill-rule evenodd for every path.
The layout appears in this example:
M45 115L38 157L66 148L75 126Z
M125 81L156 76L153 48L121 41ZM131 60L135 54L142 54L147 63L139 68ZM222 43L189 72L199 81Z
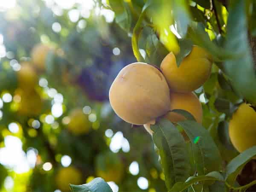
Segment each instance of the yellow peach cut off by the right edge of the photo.
M229 122L229 136L240 153L256 145L256 111L243 103Z

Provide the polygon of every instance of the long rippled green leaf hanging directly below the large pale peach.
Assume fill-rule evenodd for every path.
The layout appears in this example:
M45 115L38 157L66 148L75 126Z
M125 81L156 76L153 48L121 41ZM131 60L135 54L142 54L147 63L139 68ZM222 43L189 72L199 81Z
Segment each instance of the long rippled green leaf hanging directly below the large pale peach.
M153 141L159 149L167 189L189 177L190 163L186 143L178 129L167 119L151 125Z

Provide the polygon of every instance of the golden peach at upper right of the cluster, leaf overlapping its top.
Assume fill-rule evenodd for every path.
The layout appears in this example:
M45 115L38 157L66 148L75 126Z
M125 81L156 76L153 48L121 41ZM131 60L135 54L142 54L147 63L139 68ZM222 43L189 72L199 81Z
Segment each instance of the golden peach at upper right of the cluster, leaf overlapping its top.
M208 79L212 67L211 56L201 47L193 46L189 55L177 67L175 55L170 52L160 69L173 92L188 93L198 89Z

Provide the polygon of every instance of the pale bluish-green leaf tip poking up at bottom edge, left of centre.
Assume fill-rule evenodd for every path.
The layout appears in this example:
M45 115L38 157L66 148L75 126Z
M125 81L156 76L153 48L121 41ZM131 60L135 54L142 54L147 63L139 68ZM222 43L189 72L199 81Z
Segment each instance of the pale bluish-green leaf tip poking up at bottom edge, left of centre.
M83 185L70 184L72 192L113 192L108 183L101 177L96 177L89 183Z

